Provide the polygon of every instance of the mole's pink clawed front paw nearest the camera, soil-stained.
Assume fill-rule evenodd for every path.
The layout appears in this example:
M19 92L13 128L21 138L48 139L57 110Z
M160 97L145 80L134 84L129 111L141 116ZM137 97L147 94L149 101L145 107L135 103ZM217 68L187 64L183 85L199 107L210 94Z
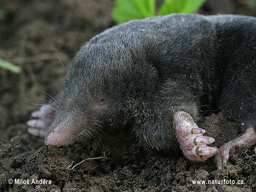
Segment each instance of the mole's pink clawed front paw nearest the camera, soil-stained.
M174 114L173 128L183 154L193 161L204 161L218 152L216 147L206 146L215 140L204 137L204 129L198 128L192 116L183 111Z

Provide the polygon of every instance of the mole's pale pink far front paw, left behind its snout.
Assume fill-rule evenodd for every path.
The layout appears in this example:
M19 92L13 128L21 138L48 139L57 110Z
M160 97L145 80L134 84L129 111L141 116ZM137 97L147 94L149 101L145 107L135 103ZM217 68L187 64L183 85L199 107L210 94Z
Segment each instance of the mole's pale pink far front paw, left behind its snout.
M48 127L52 123L54 113L55 109L52 105L43 105L38 111L34 111L31 116L36 119L27 121L29 134L45 137Z

